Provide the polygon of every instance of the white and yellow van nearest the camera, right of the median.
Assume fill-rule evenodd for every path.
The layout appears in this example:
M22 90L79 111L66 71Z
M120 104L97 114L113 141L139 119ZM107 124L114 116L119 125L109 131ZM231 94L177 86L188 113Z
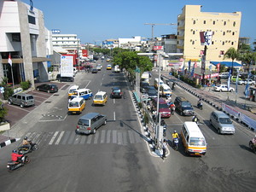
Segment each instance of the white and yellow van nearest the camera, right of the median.
M195 122L184 122L181 137L187 154L201 156L207 153L206 139Z

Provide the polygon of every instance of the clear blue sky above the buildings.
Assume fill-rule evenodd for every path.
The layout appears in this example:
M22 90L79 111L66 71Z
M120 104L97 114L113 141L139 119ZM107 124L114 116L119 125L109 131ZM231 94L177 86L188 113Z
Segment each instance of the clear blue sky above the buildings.
M30 3L30 0L20 0ZM32 0L44 12L44 25L61 34L77 34L81 44L109 38L151 38L151 25L177 23L186 4L202 12L241 12L240 37L256 41L256 0ZM176 26L154 26L154 37L177 33Z

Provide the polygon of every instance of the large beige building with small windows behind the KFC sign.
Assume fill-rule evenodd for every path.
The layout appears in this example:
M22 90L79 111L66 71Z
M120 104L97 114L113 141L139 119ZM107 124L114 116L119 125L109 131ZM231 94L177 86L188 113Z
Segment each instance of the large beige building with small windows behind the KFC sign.
M237 49L241 26L241 12L215 13L201 12L201 5L185 5L177 16L177 52L183 53L185 67L187 61L201 64L204 45L200 32L212 32L212 42L207 45L206 67L210 61L224 60L224 53L234 47Z

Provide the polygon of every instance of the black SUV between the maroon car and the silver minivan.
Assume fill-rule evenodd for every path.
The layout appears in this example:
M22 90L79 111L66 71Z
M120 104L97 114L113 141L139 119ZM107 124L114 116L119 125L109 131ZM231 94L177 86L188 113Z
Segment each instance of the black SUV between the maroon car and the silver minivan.
M180 112L180 115L194 115L195 111L188 100L183 96L177 96L174 100L176 110Z

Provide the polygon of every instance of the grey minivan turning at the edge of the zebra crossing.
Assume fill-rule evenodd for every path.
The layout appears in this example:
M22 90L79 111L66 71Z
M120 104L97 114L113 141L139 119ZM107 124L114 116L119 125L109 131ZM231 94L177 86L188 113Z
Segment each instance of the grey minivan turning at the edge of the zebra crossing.
M77 134L96 133L96 130L107 124L107 116L100 113L87 113L79 118L76 128Z

